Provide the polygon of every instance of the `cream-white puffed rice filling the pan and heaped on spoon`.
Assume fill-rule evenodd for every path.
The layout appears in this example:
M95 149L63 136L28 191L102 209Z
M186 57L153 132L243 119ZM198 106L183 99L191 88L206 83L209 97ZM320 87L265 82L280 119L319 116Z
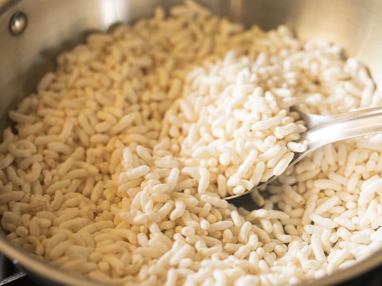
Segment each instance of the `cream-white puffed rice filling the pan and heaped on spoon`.
M185 1L62 53L0 145L8 238L117 285L285 285L382 247L382 134L306 146L289 107L382 104L367 69L285 26L264 32Z

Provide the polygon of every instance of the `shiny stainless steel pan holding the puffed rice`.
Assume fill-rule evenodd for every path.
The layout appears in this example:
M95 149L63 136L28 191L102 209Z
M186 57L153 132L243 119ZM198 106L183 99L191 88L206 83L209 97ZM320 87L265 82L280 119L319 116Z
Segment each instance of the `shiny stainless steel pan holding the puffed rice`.
M301 39L328 39L370 67L382 82L382 2L379 0L204 0L215 13L266 30L278 24L293 28ZM0 130L9 124L6 110L33 92L38 79L54 68L54 58L91 31L106 31L116 22L152 14L156 5L170 7L177 0L0 0ZM14 37L9 21L15 12L28 15L28 27ZM379 85L379 88L380 85ZM68 275L25 254L0 231L0 251L16 259L31 275L60 285L101 285ZM359 265L309 285L329 285L382 264L378 251Z

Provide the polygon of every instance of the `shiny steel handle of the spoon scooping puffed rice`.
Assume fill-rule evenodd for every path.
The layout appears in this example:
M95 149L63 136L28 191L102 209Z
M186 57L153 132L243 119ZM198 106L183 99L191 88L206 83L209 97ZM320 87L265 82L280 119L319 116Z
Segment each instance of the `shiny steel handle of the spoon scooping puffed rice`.
M301 134L298 141L306 141L308 148L306 152L297 153L293 161L305 157L323 145L378 132L382 132L382 106L332 116L329 122L312 128L308 126L308 131Z

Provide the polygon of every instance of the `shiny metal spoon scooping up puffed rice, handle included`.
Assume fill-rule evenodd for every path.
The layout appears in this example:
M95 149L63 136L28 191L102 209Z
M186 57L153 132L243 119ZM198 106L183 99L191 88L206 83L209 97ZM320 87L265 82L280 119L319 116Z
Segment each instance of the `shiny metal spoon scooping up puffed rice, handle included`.
M300 118L305 121L306 127L308 128L306 132L301 134L300 139L296 142L302 143L306 141L308 148L304 152L295 153L287 168L326 144L382 131L382 106L329 116L304 113L295 106L291 107L291 110L299 113ZM268 181L253 187L249 191L228 196L225 197L225 199L231 199L253 192L275 180L277 177L278 176L273 176Z

